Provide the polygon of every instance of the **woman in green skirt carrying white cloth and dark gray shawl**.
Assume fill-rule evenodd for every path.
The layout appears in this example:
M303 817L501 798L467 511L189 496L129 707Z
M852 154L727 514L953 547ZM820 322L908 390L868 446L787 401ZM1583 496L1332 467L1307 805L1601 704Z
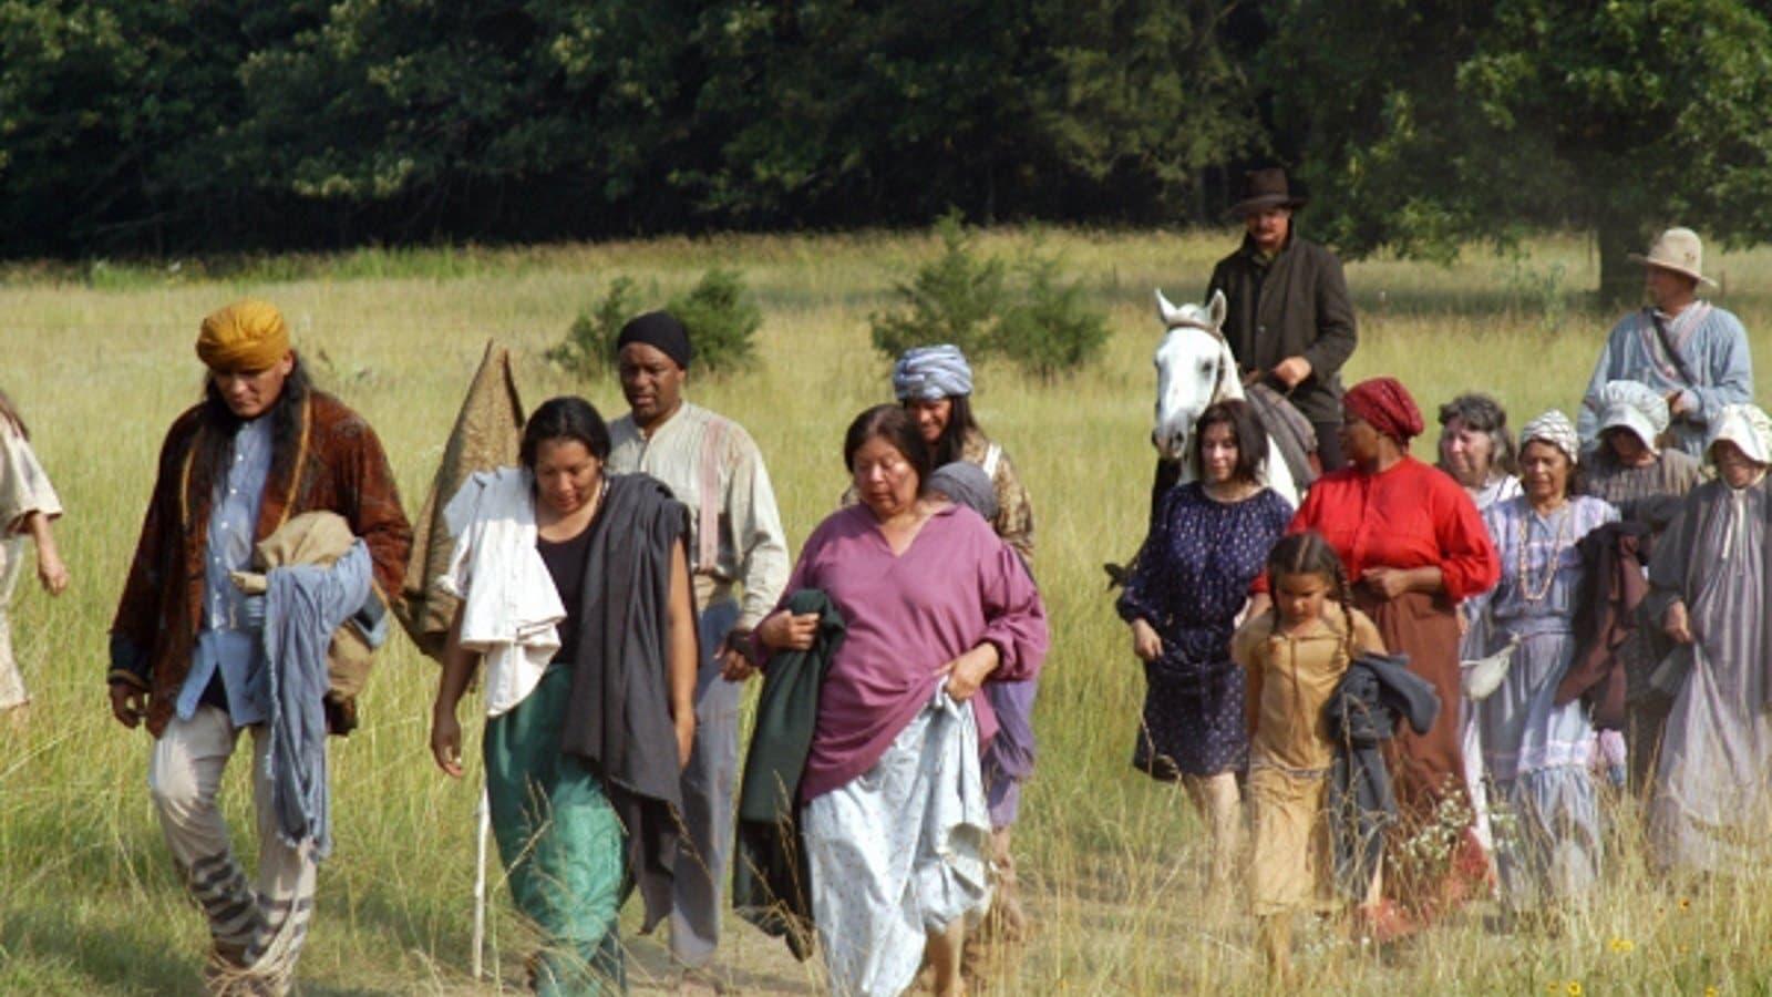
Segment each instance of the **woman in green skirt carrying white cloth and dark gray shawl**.
M455 550L438 585L461 605L431 752L461 777L455 708L484 660L493 834L551 995L626 992L617 915L634 887L641 930L670 912L695 738L689 516L652 477L604 474L608 456L590 403L549 399L523 467L473 475L445 513Z

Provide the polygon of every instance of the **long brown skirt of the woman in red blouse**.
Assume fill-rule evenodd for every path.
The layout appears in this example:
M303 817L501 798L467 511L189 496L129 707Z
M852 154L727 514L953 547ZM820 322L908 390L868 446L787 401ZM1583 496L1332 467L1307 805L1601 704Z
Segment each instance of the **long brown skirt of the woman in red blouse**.
M1386 843L1384 892L1432 917L1481 889L1488 875L1464 784L1458 616L1444 596L1405 593L1384 601L1364 585L1354 593L1384 648L1409 655L1409 671L1426 679L1441 701L1428 733L1402 724L1384 750L1400 818Z

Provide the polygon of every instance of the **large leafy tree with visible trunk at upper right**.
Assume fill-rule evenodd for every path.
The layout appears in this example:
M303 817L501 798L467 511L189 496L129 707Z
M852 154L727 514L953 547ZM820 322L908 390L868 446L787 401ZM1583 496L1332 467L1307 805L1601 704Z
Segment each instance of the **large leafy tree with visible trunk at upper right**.
M1285 0L1263 48L1276 126L1352 254L1449 259L1526 225L1591 232L1602 293L1671 224L1772 236L1772 21L1763 4ZM1310 85L1286 87L1286 76Z

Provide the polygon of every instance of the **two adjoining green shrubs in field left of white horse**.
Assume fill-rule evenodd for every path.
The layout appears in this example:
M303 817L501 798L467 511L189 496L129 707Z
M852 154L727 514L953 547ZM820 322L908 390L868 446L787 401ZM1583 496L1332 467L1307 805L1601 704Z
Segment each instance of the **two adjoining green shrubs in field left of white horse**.
M1058 255L1030 255L1014 273L978 257L957 213L936 224L943 252L916 279L898 284L900 309L872 316L874 346L898 357L913 346L952 342L973 360L998 355L1053 380L1093 360L1108 342L1108 319L1083 287L1065 284Z

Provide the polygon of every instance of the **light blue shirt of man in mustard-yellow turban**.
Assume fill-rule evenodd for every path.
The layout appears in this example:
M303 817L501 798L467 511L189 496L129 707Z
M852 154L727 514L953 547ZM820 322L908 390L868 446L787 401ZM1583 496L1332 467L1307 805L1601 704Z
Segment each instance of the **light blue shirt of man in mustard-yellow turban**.
M209 534L204 543L204 619L191 653L191 674L179 690L177 711L190 720L202 703L204 688L222 672L229 718L236 727L264 720L260 710L264 683L264 648L257 630L245 621L246 596L229 580L229 571L252 566L252 541L259 527L264 481L271 475L271 420L243 422L234 433L227 475L216 481L209 509Z

